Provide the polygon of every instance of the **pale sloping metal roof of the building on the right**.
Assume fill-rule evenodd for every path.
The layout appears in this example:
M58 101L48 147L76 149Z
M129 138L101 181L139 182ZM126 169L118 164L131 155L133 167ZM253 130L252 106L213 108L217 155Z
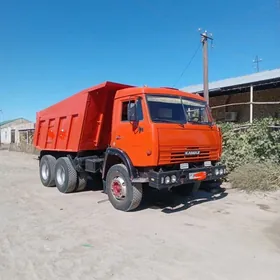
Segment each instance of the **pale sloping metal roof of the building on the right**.
M258 72L247 76L240 76L236 78L229 78L225 80L211 82L209 83L209 91L213 91L215 89L220 89L225 87L253 84L253 83L277 79L277 78L280 78L280 68L269 70L269 71ZM191 93L202 92L203 84L187 86L182 88L181 90L186 92L191 92Z

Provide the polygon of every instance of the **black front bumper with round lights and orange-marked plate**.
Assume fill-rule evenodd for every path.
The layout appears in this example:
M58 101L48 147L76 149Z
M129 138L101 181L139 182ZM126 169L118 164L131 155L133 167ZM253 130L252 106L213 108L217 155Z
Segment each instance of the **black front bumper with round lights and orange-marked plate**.
M219 170L219 173L217 173L217 170ZM220 170L223 170L223 172L221 172ZM195 174L203 174L203 179L196 178ZM191 184L198 181L218 180L225 177L226 175L227 172L226 167L224 165L201 168L188 168L165 172L150 171L148 173L149 186L159 190L172 188L184 184Z

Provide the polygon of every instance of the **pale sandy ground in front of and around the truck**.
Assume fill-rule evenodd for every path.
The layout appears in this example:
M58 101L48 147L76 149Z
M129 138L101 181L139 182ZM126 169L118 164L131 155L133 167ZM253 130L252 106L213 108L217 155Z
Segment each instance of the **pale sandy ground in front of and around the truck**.
M31 155L0 151L0 279L280 278L280 194L227 190L133 213L101 191L45 188Z

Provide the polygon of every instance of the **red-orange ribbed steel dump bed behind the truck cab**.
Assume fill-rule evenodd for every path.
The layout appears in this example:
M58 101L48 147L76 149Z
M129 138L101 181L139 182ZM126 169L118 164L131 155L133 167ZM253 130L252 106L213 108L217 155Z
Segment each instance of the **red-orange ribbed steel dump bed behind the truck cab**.
M111 140L114 97L131 86L105 82L36 115L34 145L40 150L103 150Z

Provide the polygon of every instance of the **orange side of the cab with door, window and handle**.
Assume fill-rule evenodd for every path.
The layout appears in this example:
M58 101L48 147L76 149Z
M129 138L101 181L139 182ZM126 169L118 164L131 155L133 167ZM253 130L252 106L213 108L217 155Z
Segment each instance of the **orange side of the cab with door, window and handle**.
M151 128L145 119L146 108L139 97L120 100L115 114L112 146L126 152L134 166L146 166L152 149ZM128 120L128 106L136 106L137 121Z

